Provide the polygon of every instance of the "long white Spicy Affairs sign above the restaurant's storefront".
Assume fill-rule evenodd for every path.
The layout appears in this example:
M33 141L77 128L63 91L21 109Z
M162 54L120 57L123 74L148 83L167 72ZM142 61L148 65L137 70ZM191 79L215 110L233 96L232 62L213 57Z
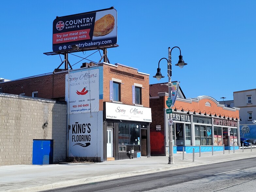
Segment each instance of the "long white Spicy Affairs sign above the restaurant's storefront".
M152 122L151 108L105 102L105 119Z

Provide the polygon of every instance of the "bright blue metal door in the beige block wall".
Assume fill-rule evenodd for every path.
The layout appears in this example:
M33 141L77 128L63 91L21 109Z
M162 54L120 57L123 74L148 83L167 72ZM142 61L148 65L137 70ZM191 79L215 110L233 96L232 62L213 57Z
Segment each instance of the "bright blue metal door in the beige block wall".
M53 140L33 139L32 164L53 164Z

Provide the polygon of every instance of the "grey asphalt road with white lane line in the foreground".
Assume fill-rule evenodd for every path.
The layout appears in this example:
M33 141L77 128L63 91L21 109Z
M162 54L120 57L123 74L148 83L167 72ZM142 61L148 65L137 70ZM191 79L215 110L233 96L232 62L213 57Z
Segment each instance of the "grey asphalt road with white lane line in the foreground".
M254 191L255 180L256 161L248 158L50 191Z

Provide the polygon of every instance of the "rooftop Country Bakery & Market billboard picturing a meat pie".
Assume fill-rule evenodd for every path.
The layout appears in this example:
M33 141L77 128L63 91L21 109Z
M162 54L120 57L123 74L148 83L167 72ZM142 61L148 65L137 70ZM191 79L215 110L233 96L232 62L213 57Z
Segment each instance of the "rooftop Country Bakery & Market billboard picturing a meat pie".
M72 51L117 43L117 11L114 8L63 17L53 21L53 51Z

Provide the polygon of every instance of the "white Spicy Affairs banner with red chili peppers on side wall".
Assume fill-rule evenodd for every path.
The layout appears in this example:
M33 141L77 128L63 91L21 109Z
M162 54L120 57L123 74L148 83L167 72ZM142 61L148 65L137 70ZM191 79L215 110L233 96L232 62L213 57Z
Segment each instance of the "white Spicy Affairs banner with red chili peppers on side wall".
M99 111L99 69L66 74L69 114Z

